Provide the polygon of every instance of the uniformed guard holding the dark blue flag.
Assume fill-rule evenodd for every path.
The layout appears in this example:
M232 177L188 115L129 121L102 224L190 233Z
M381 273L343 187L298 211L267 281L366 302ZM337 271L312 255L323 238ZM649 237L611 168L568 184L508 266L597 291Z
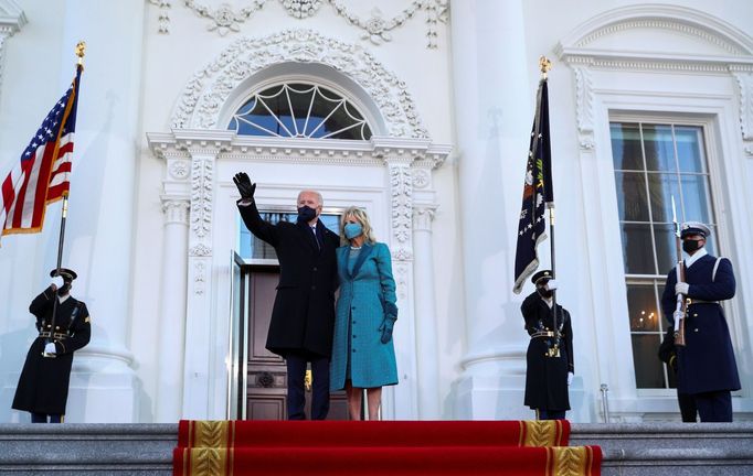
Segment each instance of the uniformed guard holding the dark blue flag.
M526 354L524 403L535 410L539 420L561 420L570 410L568 387L575 372L570 313L556 305L558 339L552 312L556 282L552 271L539 271L531 282L535 284L535 291L520 306L526 331L531 336Z

